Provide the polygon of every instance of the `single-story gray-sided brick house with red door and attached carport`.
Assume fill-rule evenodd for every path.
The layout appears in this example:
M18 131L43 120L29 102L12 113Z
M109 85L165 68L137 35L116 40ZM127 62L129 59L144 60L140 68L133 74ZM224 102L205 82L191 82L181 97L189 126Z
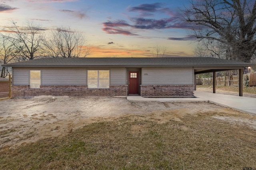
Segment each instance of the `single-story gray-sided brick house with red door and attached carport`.
M194 97L196 74L239 69L241 76L249 65L210 57L41 58L3 64L12 67L13 98Z

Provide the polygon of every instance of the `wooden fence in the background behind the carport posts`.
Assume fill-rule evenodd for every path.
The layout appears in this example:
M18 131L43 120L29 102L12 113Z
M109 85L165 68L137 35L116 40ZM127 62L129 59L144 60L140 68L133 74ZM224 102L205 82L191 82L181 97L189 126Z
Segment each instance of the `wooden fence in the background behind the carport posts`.
M197 78L196 85L212 85L213 78ZM216 86L239 86L239 76L216 77ZM256 86L256 72L243 75L243 86Z

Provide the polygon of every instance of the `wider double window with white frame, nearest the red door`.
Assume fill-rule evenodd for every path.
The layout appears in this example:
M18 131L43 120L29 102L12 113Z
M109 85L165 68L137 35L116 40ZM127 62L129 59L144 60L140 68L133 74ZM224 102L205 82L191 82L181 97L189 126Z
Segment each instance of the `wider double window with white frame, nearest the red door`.
M109 70L88 70L87 88L109 88Z

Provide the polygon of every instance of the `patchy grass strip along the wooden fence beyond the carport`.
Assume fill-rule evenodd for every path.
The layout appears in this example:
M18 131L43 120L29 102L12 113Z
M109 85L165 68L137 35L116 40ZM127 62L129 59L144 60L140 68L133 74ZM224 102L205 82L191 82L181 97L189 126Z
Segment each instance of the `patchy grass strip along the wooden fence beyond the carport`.
M209 90L212 91L212 86L206 86L206 85L197 85L196 86L197 90ZM224 92L237 92L239 93L239 87L237 86L216 86L216 90L224 91ZM249 94L256 94L256 86L251 86L251 87L244 87L243 88L244 93L249 93Z

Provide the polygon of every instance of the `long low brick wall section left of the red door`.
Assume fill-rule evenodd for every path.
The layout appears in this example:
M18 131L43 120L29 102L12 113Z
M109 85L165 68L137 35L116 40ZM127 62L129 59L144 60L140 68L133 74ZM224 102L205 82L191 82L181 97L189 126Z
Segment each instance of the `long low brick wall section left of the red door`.
M29 86L12 86L12 98L34 96L127 96L127 85L110 85L108 89L89 89L87 86L43 86L31 89Z

